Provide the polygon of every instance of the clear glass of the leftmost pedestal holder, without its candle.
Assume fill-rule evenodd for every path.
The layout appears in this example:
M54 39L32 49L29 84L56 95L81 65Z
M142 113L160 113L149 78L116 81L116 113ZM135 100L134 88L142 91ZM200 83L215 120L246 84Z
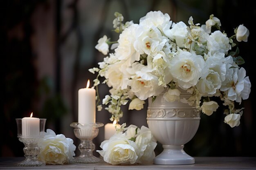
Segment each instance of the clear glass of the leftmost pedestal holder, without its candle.
M46 119L39 119L39 135L38 136L24 136L22 135L22 119L16 119L17 123L17 137L25 147L23 148L25 160L18 163L18 166L45 166L45 163L37 159L40 153L38 141L44 137Z

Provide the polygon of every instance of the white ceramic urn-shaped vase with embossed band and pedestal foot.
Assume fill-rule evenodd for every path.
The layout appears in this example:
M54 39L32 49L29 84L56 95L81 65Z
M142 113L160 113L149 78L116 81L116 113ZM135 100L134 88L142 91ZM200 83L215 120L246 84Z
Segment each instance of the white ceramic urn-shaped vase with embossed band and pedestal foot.
M180 99L191 96L186 91ZM154 159L154 164L184 165L193 164L195 159L184 152L184 144L189 142L198 130L200 111L182 102L166 102L164 93L157 96L154 102L148 99L148 128L159 141L164 150Z

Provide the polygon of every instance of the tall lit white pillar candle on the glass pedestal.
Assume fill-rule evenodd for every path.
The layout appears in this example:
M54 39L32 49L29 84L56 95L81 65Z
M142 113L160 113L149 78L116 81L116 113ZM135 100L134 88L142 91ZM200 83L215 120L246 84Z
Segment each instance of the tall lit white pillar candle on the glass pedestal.
M90 80L88 80L86 88L81 88L78 91L78 123L80 124L95 123L96 91L89 86Z

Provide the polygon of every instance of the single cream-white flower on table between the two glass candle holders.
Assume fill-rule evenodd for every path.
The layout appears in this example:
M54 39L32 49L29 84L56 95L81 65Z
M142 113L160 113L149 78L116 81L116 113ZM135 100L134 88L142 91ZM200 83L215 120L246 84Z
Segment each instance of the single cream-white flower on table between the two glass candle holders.
M67 164L74 159L76 146L73 140L65 135L56 135L51 129L47 129L44 138L38 143L40 153L38 160L46 164Z

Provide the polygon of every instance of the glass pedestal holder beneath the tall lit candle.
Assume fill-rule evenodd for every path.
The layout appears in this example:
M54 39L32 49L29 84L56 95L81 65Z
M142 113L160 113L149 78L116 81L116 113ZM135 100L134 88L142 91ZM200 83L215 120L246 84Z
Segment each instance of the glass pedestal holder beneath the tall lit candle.
M102 159L99 159L92 154L92 152L95 150L95 145L92 142L92 139L98 136L99 128L104 126L104 124L98 122L96 122L95 124L79 124L74 122L70 124L70 126L74 128L75 136L81 141L78 146L81 154L78 157L75 157L72 162L103 163Z

